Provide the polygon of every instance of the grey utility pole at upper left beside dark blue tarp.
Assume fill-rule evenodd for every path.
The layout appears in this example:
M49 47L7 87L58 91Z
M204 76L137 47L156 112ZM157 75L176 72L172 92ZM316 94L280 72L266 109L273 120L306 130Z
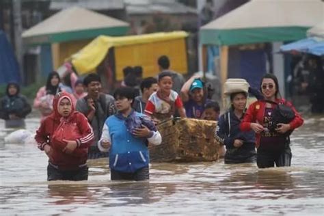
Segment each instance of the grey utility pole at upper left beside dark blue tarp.
M21 33L23 27L21 25L21 0L12 0L12 12L14 19L14 45L16 48L16 57L19 64L19 71L21 74L21 83L25 83L23 73L23 40L21 39Z

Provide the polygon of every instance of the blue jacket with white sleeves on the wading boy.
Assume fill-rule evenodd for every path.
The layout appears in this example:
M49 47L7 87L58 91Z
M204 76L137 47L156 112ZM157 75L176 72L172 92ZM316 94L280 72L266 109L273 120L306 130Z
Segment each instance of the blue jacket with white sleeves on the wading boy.
M134 111L135 112L135 111ZM130 114L130 116L133 114ZM136 116L145 116L135 112ZM126 128L126 118L120 114L109 116L103 126L103 133L98 141L98 148L102 152L108 152L109 148L103 148L101 142L107 140L111 143L109 152L109 167L118 172L133 173L150 163L147 141L153 145L161 144L162 138L159 131L151 131L151 137L139 138L131 134Z

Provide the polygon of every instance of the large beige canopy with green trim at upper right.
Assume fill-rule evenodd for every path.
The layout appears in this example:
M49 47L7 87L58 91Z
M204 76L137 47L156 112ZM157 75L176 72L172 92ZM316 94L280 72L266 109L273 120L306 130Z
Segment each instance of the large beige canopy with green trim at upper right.
M300 40L323 20L321 0L254 0L204 25L200 41L235 45Z

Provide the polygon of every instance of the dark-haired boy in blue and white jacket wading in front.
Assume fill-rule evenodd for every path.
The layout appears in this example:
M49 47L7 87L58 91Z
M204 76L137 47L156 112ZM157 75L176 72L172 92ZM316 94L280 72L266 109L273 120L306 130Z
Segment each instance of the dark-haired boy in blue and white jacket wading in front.
M130 87L119 88L113 96L118 113L105 121L98 148L103 152L110 150L111 180L146 180L148 142L161 144L161 135L147 116L132 109L135 94Z

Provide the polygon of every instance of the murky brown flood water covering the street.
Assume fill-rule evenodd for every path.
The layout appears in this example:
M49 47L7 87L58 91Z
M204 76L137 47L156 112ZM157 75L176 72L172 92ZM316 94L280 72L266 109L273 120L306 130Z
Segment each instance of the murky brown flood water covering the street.
M35 131L38 118L27 119ZM152 163L148 182L111 182L105 159L88 181L46 182L47 158L33 144L4 144L0 121L1 215L324 215L324 116L292 136L291 167Z

